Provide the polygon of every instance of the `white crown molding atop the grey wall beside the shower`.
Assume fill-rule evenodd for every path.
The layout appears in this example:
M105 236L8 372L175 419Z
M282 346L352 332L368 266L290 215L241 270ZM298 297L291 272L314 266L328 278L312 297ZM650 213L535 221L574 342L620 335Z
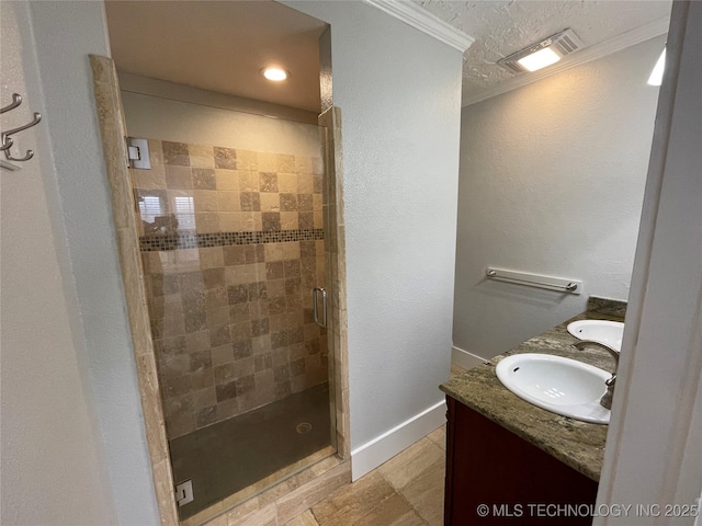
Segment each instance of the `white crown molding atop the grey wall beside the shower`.
M410 1L400 0L363 0L369 5L405 22L407 25L433 36L461 53L465 52L475 41L472 36L434 16L426 9Z

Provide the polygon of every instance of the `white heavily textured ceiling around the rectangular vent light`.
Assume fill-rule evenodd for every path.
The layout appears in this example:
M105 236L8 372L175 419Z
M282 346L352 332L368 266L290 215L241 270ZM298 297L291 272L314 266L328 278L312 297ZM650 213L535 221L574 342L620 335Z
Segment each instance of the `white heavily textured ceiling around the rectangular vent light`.
M657 0L414 0L475 38L463 55L463 98L508 81L516 75L497 60L570 27L592 46L670 13Z

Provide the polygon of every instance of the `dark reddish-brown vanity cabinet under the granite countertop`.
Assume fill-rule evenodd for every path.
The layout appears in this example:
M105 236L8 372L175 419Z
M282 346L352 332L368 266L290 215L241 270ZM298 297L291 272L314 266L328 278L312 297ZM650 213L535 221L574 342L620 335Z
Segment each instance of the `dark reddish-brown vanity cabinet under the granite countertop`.
M445 526L592 523L597 482L455 399L446 402ZM565 504L570 512L556 507ZM479 505L488 506L485 517Z

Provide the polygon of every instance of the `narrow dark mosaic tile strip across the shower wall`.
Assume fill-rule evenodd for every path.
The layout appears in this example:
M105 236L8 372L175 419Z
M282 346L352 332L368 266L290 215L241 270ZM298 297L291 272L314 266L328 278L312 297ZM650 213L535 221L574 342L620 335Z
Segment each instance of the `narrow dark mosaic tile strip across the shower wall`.
M315 228L310 230L259 230L256 232L141 236L139 238L139 250L141 252L158 252L162 250L206 249L234 244L284 243L287 241L314 241L318 239L325 239L325 231L322 228Z

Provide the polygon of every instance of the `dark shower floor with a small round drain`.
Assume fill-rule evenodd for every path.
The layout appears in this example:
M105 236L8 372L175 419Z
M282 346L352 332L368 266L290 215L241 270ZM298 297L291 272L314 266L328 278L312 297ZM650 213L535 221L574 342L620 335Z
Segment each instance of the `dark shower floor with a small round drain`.
M301 434L299 424L312 424ZM173 480L193 481L181 519L330 445L329 385L170 441Z

